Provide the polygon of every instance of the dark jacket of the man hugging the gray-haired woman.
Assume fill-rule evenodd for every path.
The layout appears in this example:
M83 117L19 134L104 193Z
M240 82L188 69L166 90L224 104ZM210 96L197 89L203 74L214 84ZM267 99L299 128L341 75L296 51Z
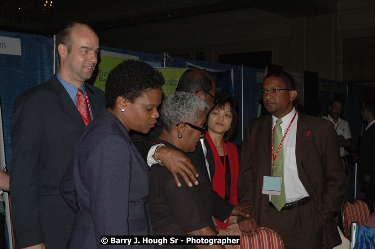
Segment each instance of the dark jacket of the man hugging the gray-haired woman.
M159 135L162 133L162 130L163 130L163 126L160 123L158 123L157 126L153 130L151 130L147 135L141 134L139 132L132 133L131 135L132 140L145 160L147 160L147 153L149 152L150 148L153 145L155 145L153 140L159 137ZM206 138L204 138L204 144L207 148L206 159L209 164L209 171L210 171L211 180L212 180L213 174L215 173L215 160L213 159L211 146L209 145ZM205 162L204 162L203 148L200 142L198 143L198 145L196 145L195 151L192 153L188 153L188 156L191 160L191 163L194 166L197 165L199 167L204 167L203 169L200 169L201 172L204 172L204 175L199 176L199 177L205 177L206 180L209 182L208 172L207 172L207 169L205 167ZM198 177L198 181L199 181L199 177ZM212 191L212 193L213 193L213 202L214 202L214 207L215 207L213 216L219 221L225 221L229 217L234 206L230 204L229 202L225 201L223 198L221 198L215 191Z

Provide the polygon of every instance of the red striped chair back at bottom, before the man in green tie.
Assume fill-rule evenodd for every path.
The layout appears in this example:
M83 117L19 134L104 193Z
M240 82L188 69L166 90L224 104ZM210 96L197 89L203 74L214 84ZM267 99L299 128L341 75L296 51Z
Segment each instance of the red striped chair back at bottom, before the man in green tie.
M284 249L280 235L272 229L258 227L255 235L242 233L240 245L225 246L226 249Z

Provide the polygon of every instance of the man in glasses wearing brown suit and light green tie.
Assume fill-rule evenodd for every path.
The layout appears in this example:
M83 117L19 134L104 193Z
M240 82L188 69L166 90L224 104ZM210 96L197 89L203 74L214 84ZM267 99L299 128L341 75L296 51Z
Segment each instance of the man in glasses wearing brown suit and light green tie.
M270 115L247 124L240 160L239 204L260 226L280 234L285 248L341 244L334 212L344 193L344 171L333 124L297 112L293 78L273 72L260 91ZM248 218L239 222L242 227Z

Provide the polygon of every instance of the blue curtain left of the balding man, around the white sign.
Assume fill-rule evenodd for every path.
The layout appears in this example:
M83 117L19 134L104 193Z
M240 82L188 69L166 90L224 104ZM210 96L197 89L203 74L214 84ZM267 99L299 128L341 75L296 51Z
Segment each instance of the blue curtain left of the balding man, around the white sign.
M0 30L0 36L21 39L21 56L0 54L0 101L5 161L10 163L10 120L13 105L26 89L47 81L53 72L53 39Z

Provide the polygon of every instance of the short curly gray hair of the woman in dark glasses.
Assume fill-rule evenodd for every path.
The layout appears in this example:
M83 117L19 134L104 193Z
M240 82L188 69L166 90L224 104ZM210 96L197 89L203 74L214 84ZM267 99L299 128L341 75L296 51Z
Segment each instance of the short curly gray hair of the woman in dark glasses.
M207 104L198 96L174 92L163 101L161 123L168 131L177 124L195 123L207 108Z

